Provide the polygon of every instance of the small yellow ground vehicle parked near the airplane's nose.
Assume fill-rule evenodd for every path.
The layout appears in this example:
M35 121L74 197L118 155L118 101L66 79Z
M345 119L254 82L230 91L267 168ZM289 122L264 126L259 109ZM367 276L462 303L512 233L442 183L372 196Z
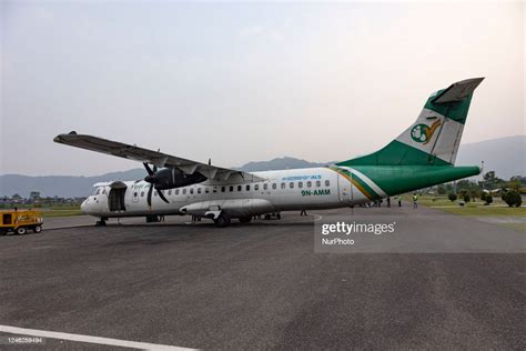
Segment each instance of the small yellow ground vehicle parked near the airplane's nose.
M10 231L23 235L28 230L42 231L42 214L36 210L0 210L0 235Z

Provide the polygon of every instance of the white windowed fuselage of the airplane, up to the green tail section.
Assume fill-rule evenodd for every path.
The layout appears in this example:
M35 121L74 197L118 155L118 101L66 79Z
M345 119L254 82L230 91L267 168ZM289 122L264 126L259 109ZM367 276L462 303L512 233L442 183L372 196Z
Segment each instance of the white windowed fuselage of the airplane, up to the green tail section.
M148 204L150 183L127 181L97 187L81 205L84 213L100 217L143 217L155 214L205 215L222 210L231 217L245 217L291 210L332 209L371 201L352 182L330 168L254 172L260 182L204 181L163 190L169 203L156 191ZM125 188L124 188L125 185ZM115 193L119 192L115 207ZM112 209L110 209L112 208Z

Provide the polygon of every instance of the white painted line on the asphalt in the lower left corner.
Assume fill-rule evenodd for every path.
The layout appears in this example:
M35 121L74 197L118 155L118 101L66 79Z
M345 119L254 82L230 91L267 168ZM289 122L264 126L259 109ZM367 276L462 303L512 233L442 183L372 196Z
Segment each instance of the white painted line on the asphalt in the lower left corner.
M123 348L140 349L140 350L195 350L195 349L189 349L189 348L164 345L164 344L159 344L159 343L128 341L128 340L91 337L91 335L82 335L82 334L71 334L71 333L62 333L62 332L57 332L57 331L45 331L45 330L27 329L27 328L18 328L18 327L9 327L9 325L0 325L0 332L19 334L19 335L31 335L31 337L41 337L41 338L50 338L50 339L70 340L70 341L77 341L77 342L97 343L97 344L112 345L112 347L123 347Z

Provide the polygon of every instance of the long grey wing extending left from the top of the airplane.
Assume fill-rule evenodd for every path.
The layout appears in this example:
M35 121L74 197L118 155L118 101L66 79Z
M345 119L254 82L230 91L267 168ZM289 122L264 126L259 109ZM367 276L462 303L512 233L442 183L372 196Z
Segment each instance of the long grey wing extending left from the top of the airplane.
M70 147L117 156L123 159L155 164L159 168L174 167L186 174L199 172L208 179L215 181L230 180L236 182L253 182L264 180L263 178L252 173L201 163L163 152L143 149L136 146L130 146L93 136L78 134L74 131L68 134L59 134L54 137L53 141Z

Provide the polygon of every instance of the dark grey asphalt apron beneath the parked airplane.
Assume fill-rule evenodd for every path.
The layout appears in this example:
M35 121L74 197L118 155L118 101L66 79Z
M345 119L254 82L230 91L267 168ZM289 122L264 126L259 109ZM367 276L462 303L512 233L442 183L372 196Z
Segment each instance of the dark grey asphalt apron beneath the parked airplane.
M0 237L0 324L200 349L525 349L524 239L516 253L315 253L317 219ZM524 235L447 219L478 243Z

